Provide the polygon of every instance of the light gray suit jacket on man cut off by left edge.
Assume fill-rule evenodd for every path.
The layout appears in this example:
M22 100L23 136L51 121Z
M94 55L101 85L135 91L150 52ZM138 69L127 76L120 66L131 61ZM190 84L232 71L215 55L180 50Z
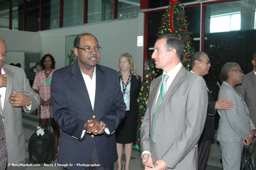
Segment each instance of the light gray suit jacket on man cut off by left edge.
M19 163L26 158L26 147L22 126L22 107L13 107L9 102L9 96L13 92L22 92L31 99L31 110L36 110L40 104L40 97L36 94L27 79L24 70L16 66L5 64L3 67L7 74L7 88L4 98L3 110L0 114L4 119L4 129L7 142L8 163ZM24 108L25 112L29 112Z

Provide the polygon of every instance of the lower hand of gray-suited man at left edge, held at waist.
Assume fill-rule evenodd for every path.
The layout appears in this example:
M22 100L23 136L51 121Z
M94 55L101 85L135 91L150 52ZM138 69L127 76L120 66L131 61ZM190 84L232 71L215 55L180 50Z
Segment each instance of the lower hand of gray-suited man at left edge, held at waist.
M30 97L21 92L13 92L9 97L9 102L13 107L29 106L30 101Z

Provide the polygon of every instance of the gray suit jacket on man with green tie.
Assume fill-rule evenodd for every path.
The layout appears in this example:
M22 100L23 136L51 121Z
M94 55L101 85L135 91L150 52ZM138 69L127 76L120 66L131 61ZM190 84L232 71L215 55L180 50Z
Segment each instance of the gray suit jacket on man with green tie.
M208 96L205 80L181 67L160 106L156 121L156 144L151 122L162 76L152 83L141 125L141 152L151 152L154 163L163 159L175 170L197 169L197 143L206 119Z

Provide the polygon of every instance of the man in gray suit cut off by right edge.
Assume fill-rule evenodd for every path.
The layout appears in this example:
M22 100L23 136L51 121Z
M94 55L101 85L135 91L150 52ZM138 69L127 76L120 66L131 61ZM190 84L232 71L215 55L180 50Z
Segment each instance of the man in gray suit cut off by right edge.
M243 77L243 84L236 86L236 91L244 98L248 108L250 118L256 127L256 52L252 55L253 70ZM256 138L254 138L250 150L254 154L256 163Z

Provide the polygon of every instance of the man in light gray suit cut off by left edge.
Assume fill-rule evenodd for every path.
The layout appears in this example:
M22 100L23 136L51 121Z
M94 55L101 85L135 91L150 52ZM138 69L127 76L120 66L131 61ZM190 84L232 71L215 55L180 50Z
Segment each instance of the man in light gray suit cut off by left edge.
M26 147L22 127L22 107L25 112L36 110L40 97L29 85L24 70L4 64L6 44L0 38L0 114L4 122L7 142L7 163L26 163ZM7 166L7 170L24 170L25 167Z

